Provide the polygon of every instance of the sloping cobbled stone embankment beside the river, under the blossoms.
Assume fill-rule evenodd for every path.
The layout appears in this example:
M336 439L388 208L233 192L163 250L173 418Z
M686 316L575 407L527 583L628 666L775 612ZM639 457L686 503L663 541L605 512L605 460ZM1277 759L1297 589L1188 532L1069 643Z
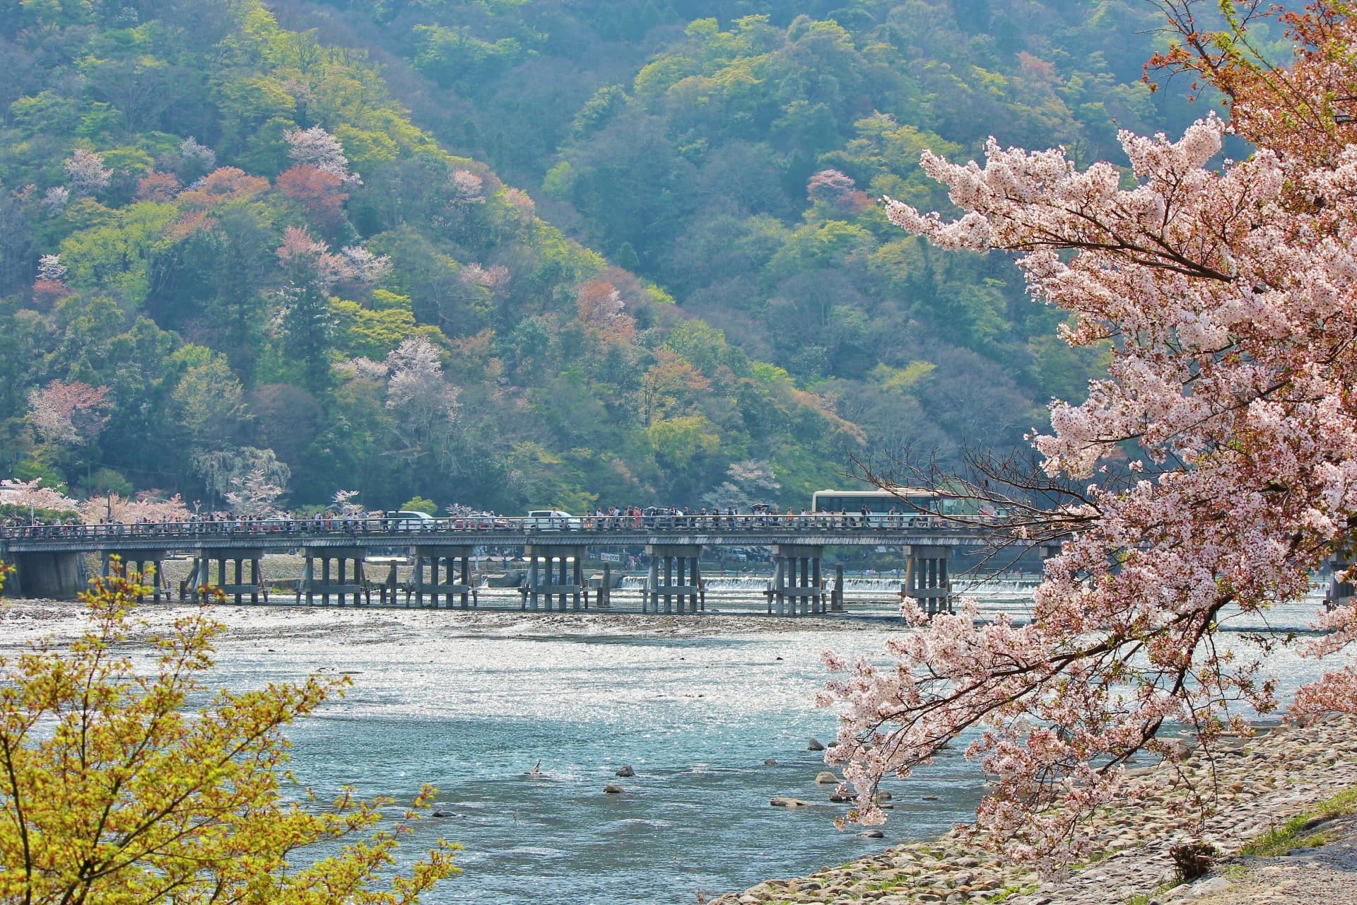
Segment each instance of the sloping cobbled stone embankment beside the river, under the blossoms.
M1299 727L1259 730L1254 738L1227 738L1220 750L1193 753L1183 773L1217 795L1205 822L1179 813L1187 792L1170 786L1167 767L1134 771L1132 783L1151 787L1143 803L1107 811L1088 828L1101 855L1061 883L1042 883L1003 856L970 851L951 833L870 855L810 877L767 881L711 905L905 905L906 902L999 902L1006 905L1117 905L1193 901L1194 890L1168 889L1177 881L1170 848L1204 841L1231 855L1357 784L1357 719L1330 718ZM897 795L898 799L898 795ZM1216 883L1210 891L1223 891ZM1201 889L1198 894L1208 893ZM1224 900L1212 900L1224 901ZM1323 900L1308 900L1320 905ZM1334 900L1339 901L1339 900ZM1357 901L1357 900L1353 900Z

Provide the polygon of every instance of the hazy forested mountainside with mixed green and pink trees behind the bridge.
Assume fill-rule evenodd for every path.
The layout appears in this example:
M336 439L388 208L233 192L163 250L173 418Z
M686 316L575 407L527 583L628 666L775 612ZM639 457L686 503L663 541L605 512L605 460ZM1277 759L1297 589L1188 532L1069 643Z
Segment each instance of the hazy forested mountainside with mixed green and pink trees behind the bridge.
M286 27L280 26L280 19ZM0 0L0 476L803 505L1096 353L919 152L1177 128L1133 0ZM379 61L383 65L379 65Z

